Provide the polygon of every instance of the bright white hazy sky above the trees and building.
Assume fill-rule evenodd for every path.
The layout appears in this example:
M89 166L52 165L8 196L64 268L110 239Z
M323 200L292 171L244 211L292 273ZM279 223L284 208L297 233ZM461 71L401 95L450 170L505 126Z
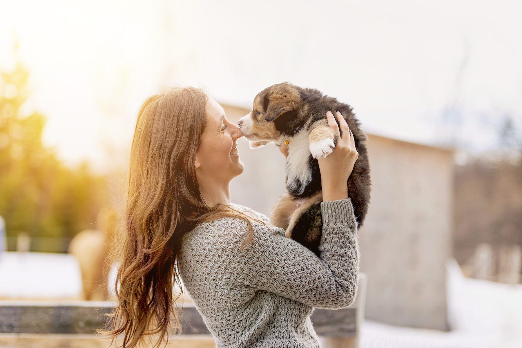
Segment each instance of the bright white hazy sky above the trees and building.
M481 151L505 115L522 129L521 4L0 0L0 69L17 37L27 111L48 116L44 140L69 163L125 158L139 104L162 87L251 107L282 81L352 105L369 132Z

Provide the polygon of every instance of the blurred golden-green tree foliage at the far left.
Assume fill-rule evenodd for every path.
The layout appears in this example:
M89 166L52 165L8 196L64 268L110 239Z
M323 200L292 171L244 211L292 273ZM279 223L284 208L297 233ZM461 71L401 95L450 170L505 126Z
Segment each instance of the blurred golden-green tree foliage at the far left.
M1 74L0 215L9 236L73 237L93 228L108 199L105 185L87 164L70 169L43 146L45 117L20 114L28 78L21 63Z

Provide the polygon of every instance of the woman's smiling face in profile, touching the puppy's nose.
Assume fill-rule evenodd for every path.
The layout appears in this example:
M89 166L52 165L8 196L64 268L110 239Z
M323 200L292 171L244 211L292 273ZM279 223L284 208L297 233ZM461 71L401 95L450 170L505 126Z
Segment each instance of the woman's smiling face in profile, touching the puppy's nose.
M243 173L243 162L236 146L243 134L225 117L221 105L212 98L206 104L207 125L196 152L196 173L199 181L230 182Z

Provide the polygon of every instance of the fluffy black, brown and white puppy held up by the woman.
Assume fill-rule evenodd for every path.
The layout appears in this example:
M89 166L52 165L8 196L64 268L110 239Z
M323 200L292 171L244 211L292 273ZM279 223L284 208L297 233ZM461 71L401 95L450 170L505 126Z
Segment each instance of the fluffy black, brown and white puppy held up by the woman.
M366 135L350 106L316 89L283 82L259 92L252 112L238 122L245 137L251 140L251 148L262 147L271 141L277 146L283 142L288 144L287 191L272 207L270 222L285 229L287 237L311 249L317 256L323 226L317 158L330 154L338 140L328 126L327 111L334 115L339 111L346 119L359 152L348 178L348 191L357 223L361 226L370 202L370 165Z

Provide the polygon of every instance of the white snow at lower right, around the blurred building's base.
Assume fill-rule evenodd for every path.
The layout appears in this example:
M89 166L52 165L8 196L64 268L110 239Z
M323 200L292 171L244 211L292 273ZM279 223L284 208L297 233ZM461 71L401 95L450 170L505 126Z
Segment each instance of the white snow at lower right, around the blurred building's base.
M365 320L361 348L522 347L522 285L464 277L451 259L447 269L448 321L452 331L396 327Z

